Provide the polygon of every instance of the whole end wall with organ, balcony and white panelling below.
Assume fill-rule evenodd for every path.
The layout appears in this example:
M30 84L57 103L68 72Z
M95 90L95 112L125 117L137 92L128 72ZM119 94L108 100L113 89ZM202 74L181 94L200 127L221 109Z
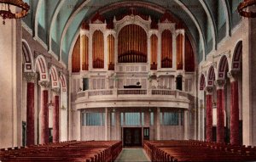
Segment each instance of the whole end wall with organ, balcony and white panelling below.
M131 126L148 128L148 139L193 136L194 50L183 26L168 16L155 23L129 14L107 23L96 14L82 25L70 80L77 139L125 139Z

